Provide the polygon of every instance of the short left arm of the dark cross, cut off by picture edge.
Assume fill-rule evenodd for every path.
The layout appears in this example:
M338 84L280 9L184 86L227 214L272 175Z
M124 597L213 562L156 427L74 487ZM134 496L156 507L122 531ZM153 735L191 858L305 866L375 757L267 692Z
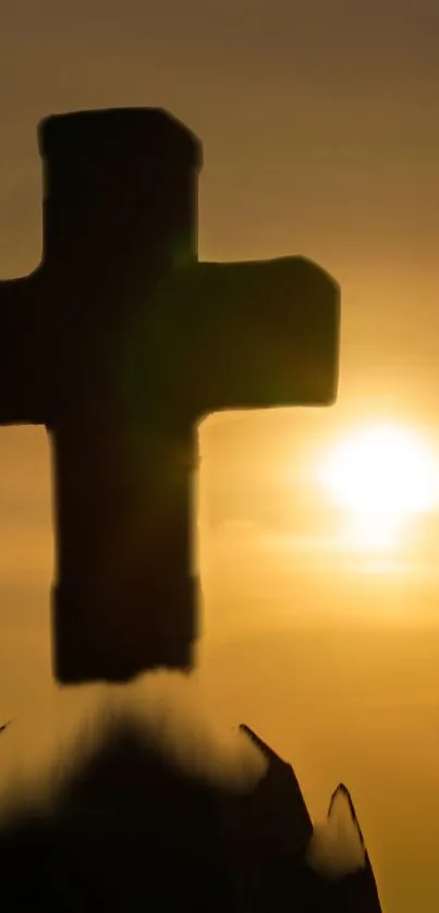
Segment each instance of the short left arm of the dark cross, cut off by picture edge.
M34 276L0 282L0 425L45 423L37 282Z

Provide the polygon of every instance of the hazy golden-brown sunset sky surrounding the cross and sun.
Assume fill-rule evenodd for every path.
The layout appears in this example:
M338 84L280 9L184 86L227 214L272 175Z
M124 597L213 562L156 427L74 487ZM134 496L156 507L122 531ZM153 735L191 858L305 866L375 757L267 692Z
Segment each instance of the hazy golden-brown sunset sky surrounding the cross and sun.
M218 719L295 765L313 815L349 786L388 913L412 911L419 885L424 913L439 902L439 531L432 516L428 548L397 568L354 559L328 545L313 467L381 417L438 447L438 32L434 0L0 10L2 278L41 256L39 120L157 106L203 142L200 259L303 254L341 285L337 405L199 429L196 674ZM3 770L36 770L106 695L51 680L44 429L3 428L0 468L0 716L15 720Z

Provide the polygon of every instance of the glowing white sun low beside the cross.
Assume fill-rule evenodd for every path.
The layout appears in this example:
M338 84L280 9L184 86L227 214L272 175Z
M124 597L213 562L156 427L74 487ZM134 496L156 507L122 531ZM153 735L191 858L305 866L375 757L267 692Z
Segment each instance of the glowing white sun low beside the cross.
M439 502L439 471L420 435L392 424L365 427L325 455L319 480L350 515L352 538L392 546L406 521Z

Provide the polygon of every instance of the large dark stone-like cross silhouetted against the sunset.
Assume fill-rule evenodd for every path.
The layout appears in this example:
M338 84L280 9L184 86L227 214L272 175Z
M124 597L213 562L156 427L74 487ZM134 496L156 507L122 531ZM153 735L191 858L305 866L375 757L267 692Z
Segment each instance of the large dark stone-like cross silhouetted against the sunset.
M57 114L38 136L42 258L0 283L0 424L51 442L53 673L188 670L197 423L333 402L339 287L298 256L198 263L200 144L166 111Z

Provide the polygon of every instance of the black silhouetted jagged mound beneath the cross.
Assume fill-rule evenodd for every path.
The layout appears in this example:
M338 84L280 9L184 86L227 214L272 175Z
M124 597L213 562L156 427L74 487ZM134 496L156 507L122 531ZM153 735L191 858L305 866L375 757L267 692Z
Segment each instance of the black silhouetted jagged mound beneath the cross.
M338 881L306 864L313 825L293 769L246 731L268 772L232 795L120 729L64 784L54 812L3 829L2 913L380 913L368 859Z

